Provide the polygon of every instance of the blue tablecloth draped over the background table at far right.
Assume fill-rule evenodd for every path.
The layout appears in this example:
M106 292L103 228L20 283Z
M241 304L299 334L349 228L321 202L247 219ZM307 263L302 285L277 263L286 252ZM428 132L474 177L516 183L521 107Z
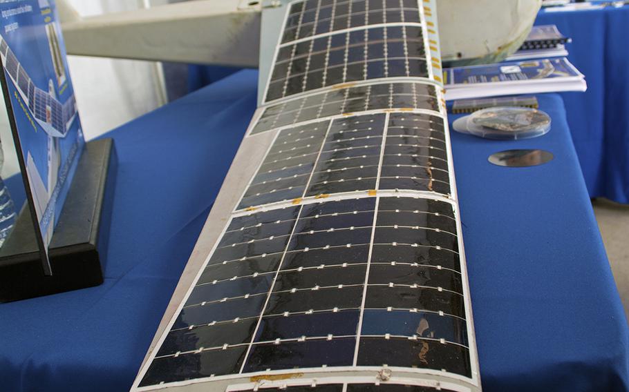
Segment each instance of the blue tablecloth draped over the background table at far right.
M590 197L629 203L629 6L542 11L536 24L572 38L568 59L588 81L562 96Z

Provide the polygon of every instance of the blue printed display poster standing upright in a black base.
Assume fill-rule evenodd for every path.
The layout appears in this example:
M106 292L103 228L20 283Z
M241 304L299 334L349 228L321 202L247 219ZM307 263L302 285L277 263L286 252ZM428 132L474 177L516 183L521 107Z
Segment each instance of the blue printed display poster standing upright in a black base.
M54 0L0 1L2 87L44 270L84 147Z

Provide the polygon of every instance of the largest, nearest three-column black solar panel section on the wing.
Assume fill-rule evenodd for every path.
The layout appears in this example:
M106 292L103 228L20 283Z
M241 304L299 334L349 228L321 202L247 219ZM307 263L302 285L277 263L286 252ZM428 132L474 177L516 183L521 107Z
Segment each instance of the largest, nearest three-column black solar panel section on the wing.
M453 207L433 199L234 217L141 385L353 364L469 376L458 251Z

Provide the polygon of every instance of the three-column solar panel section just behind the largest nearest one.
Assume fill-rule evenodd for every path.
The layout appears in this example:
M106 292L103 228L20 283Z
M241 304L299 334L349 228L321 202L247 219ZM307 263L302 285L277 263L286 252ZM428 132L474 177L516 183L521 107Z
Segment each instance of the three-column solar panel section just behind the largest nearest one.
M250 179L238 209L299 197L380 188L411 186L410 189L449 194L447 146L442 133L419 126L404 127L406 124L400 126L396 122L393 125L396 132L403 132L384 134L386 124L394 120L422 120L418 116L381 113L339 117L330 120L326 135L321 135L323 124L317 122L313 127L317 138L294 137L294 132L301 135L305 130L308 131L308 126L281 131L267 150L256 174ZM351 122L353 124L349 124ZM344 126L348 128L342 128ZM404 132L411 135L404 135ZM357 135L345 137L347 133ZM307 141L307 144L302 144L302 141ZM422 159L421 156L439 160L429 158L425 162L417 161ZM433 166L438 170L433 171ZM382 169L386 169L384 173ZM386 186L379 186L382 179L386 179ZM423 184L424 181L427 183ZM354 183L346 185L346 182ZM400 182L399 186L396 182ZM353 186L359 188L351 188Z

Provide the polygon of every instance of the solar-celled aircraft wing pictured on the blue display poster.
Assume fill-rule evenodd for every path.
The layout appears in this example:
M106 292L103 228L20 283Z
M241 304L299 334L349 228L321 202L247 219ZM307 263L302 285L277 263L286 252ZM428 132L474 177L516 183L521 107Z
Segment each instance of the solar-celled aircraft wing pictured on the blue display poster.
M11 48L1 38L0 53L3 56L7 74L14 81L15 88L19 90L21 97L26 101L26 106L28 106L32 116L41 123L49 124L57 131L58 136L65 135L67 132L66 124L77 114L74 96L62 104L47 90L35 86Z

